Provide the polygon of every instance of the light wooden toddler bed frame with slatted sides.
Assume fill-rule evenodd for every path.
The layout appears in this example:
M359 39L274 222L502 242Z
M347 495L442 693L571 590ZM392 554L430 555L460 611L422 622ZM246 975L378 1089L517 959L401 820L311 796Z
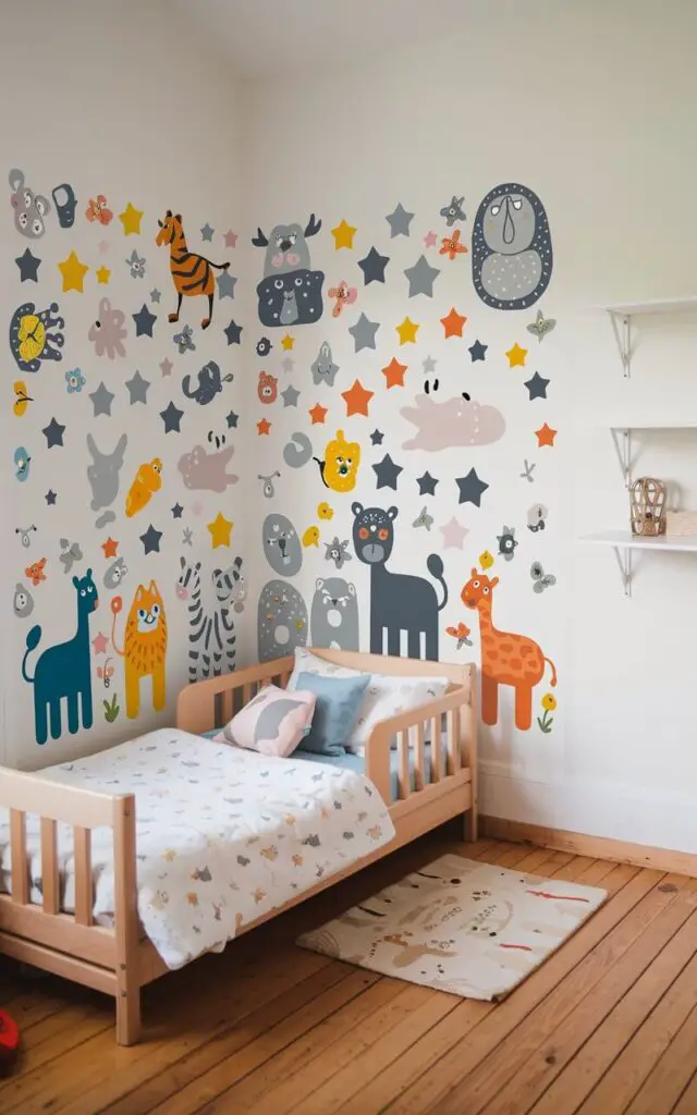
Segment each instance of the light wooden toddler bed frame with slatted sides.
M395 838L346 871L244 925L246 932L297 902L388 855L451 817L465 816L465 837L476 840L477 717L475 667L389 658L349 651L318 650L327 661L371 673L445 676L448 691L376 725L366 747L366 775L389 804ZM220 727L269 682L285 686L292 658L252 666L221 678L190 686L178 695L178 728L200 735ZM430 731L433 765L425 762L424 738ZM442 733L445 731L445 746ZM390 743L397 737L398 797L390 785ZM442 746L433 747L433 744ZM414 788L409 777L409 745L414 748ZM56 784L37 774L0 767L0 807L10 812L12 894L0 894L0 953L66 979L95 988L116 999L116 1040L134 1045L141 1037L141 988L168 969L144 937L137 914L135 797L95 793ZM40 817L42 902L30 901L26 817ZM75 913L59 910L57 824L72 826L75 838ZM114 832L114 928L93 922L91 830Z

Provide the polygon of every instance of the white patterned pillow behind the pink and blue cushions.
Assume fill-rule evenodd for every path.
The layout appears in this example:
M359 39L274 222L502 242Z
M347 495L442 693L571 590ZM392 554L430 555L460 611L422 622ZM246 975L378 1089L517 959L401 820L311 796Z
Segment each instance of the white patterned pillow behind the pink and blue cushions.
M348 666L336 666L323 658L312 655L303 647L296 648L296 665L288 681L288 688L294 689L300 673L319 673L326 677L350 678L358 676L360 670L351 670ZM449 678L396 677L395 675L374 673L360 706L358 718L354 723L351 734L343 741L347 750L362 755L368 737L379 720L390 716L408 712L418 705L443 697L449 685ZM397 740L393 740L396 748Z

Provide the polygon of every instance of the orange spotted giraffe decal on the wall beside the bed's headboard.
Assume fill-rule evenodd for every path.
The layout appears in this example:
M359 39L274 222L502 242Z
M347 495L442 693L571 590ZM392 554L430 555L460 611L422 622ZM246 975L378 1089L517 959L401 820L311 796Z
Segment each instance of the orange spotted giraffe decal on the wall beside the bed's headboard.
M462 591L466 608L480 613L482 638L482 719L496 724L498 719L498 686L515 689L515 727L526 731L532 724L532 691L544 677L544 663L552 668L550 685L556 685L556 668L545 658L534 641L524 634L498 631L492 620L493 591L498 578L490 580L485 573L472 570L472 576Z

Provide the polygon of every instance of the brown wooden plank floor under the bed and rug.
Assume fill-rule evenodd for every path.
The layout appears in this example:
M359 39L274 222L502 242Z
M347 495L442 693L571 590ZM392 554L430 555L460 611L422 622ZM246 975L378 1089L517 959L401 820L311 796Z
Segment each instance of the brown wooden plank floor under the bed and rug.
M293 935L444 851L600 885L607 904L504 1002L297 949ZM108 1000L0 960L23 1058L0 1112L697 1115L697 880L524 845L403 850L153 985L145 1040Z

